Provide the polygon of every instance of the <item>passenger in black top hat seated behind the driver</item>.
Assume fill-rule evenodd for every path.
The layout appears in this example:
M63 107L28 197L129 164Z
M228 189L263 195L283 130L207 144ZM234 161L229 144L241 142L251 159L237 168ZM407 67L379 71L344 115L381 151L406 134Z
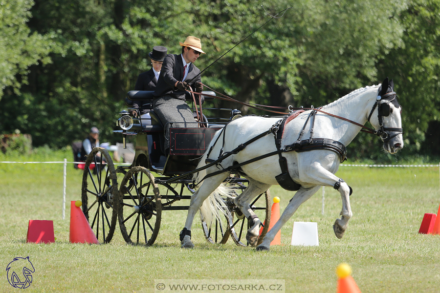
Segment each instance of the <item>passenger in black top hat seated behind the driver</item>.
M157 85L157 80L159 79L160 70L162 68L162 63L167 56L167 48L163 46L154 46L153 51L148 55L151 59L151 68L147 72L139 74L137 77L136 84L134 85L134 90L155 90ZM144 104L145 103L145 104ZM134 101L133 108L141 108L140 118L142 119L142 124L151 124L150 110L152 106L149 101ZM132 116L137 116L137 111L132 110Z

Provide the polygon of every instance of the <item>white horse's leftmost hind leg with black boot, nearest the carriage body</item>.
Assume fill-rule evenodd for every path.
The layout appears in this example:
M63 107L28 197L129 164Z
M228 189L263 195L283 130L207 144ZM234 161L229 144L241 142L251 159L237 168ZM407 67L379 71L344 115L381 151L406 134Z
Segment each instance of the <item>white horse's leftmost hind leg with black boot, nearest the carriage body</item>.
M194 217L196 216L205 199L207 199L208 196L220 186L220 184L227 176L227 173L221 173L219 175L212 176L203 180L202 185L191 196L185 227L181 232L183 234L181 234L180 236L181 248L194 248L194 244L191 241L191 234L188 234L191 232L191 226L193 225Z

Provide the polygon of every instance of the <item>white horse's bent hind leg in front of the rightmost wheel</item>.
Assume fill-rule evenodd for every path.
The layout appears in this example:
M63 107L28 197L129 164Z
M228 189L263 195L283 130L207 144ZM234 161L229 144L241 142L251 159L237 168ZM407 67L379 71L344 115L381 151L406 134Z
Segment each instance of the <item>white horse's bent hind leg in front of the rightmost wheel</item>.
M235 205L242 211L246 219L248 219L249 225L251 226L246 233L247 243L249 243L251 246L257 245L261 221L258 217L255 217L255 213L250 208L249 203L256 196L264 193L269 187L270 184L264 184L249 179L249 185L247 188L234 199Z

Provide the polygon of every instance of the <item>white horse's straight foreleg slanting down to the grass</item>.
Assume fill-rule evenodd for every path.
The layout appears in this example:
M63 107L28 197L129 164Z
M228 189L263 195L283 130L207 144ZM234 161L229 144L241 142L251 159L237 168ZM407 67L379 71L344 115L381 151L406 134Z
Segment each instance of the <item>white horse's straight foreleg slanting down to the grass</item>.
M272 229L270 229L267 232L266 236L264 236L263 242L257 247L257 251L269 250L270 242L272 242L273 238L275 238L275 235L278 233L281 227L283 227L284 224L286 224L288 219L292 217L292 215L299 208L299 206L301 206L313 194L315 194L315 192L318 191L319 188L320 186L315 186L313 188L300 188L295 193L295 195L290 200L289 204L287 205L286 209L284 210L278 222L276 222L275 225L272 227Z

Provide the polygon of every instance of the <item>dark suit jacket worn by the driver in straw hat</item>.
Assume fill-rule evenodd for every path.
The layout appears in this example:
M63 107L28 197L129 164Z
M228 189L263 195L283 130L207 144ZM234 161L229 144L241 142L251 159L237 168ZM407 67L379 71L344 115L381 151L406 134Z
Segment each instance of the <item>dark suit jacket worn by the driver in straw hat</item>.
M162 63L162 69L160 70L159 81L157 82L156 89L153 93L155 98L162 96L171 96L173 98L185 101L185 91L179 90L174 85L177 81L182 81L183 78L183 62L182 56L176 54L168 54ZM185 82L189 82L189 85L195 89L195 84L201 82L200 69L191 63L188 76ZM195 78L197 76L197 78Z

